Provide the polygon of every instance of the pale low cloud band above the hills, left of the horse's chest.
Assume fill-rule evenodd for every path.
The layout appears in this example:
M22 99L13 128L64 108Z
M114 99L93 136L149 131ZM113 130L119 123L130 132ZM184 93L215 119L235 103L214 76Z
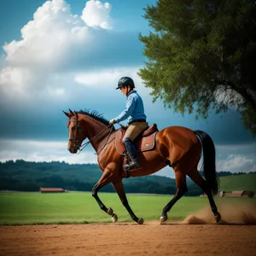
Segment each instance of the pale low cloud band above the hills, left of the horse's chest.
M71 154L67 150L67 142L40 142L27 140L0 141L0 161L65 161L69 164L96 163L93 149L84 149L80 154Z

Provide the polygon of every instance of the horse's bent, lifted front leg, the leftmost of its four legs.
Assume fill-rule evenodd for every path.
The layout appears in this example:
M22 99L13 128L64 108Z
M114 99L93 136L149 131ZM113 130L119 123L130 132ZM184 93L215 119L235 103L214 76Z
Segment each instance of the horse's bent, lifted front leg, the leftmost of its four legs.
M110 169L106 169L100 180L96 183L96 185L92 189L92 196L96 199L96 202L98 203L99 207L102 209L102 211L107 212L108 215L111 215L112 221L116 222L118 220L118 217L116 214L113 213L112 208L107 208L105 205L102 203L100 198L98 197L98 191L111 181L111 177L113 176L113 171Z

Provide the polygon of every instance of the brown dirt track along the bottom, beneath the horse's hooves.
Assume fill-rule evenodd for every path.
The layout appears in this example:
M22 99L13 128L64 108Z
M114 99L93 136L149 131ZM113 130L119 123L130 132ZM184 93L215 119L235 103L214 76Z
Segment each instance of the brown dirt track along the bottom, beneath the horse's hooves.
M0 255L256 255L256 225L1 226Z

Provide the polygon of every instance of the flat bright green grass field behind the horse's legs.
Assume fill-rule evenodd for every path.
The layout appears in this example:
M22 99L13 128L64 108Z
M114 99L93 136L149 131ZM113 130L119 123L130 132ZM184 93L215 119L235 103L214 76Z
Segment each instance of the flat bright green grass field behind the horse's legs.
M116 194L100 193L106 207L112 207L119 222L132 221ZM162 208L171 200L168 195L127 195L137 217L159 220ZM247 201L241 198L216 198L216 201ZM252 199L253 203L256 201ZM169 219L182 220L190 213L208 206L207 198L183 197L172 208ZM40 194L0 193L0 224L88 224L109 223L91 193Z

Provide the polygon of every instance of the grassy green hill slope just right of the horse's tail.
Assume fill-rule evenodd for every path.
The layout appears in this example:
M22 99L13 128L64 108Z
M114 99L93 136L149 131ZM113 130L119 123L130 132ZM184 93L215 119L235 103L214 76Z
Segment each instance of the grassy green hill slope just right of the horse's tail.
M220 177L220 191L253 190L256 192L256 173Z

